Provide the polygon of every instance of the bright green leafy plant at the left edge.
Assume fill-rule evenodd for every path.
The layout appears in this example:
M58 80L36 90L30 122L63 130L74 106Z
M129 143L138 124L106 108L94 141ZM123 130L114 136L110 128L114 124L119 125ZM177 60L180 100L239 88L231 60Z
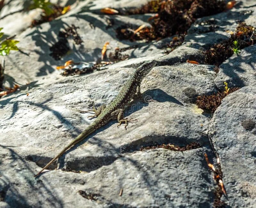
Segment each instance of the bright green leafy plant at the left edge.
M0 31L3 29L3 27L0 28ZM2 38L4 35L4 33L0 33L0 38ZM4 40L2 40L0 42L0 55L1 56L6 56L9 55L10 50L19 50L18 47L16 46L16 44L19 41L13 40L12 38L15 35L11 36L11 37L7 37Z

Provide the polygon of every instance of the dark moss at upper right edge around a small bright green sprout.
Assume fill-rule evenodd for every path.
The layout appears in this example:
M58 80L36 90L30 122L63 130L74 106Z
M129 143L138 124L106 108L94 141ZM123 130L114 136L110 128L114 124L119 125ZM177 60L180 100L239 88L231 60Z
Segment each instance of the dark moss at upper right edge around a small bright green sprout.
M238 41L239 49L255 44L255 28L246 25L244 22L239 23L235 34L232 34L228 40L214 44L209 50L205 51L205 63L219 66L227 58L231 57L234 54L232 50L234 41Z

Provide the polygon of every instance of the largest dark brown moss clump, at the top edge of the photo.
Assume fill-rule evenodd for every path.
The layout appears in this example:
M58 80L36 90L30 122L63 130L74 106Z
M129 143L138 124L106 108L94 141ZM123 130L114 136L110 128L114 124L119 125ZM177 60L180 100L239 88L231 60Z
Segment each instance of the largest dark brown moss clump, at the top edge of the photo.
M154 40L177 34L184 34L196 18L223 12L226 9L223 0L154 0L140 9L130 10L129 14L157 13L151 22L151 28L140 31L139 39ZM123 26L125 27L125 26ZM138 26L137 26L138 27ZM128 29L127 27L126 29ZM123 28L125 29L125 28ZM116 31L125 33L125 30ZM144 35L141 35L144 33ZM148 33L147 35L145 35ZM125 39L132 40L134 35L126 34Z

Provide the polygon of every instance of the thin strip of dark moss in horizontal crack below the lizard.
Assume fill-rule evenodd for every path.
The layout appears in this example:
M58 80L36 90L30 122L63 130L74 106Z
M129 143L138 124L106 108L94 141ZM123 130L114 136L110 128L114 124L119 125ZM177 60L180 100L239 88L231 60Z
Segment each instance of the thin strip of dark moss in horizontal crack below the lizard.
M199 147L201 147L199 143L192 142L190 144L187 144L185 147L180 147L174 144L161 144L161 145L155 145L155 146L149 146L149 147L141 147L140 150L164 148L172 151L186 151L186 150L197 149Z

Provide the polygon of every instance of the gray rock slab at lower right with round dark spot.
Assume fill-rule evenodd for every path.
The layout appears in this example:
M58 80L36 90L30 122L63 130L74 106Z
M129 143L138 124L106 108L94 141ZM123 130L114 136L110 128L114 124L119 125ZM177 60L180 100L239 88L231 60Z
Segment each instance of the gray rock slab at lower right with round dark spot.
M256 204L256 87L228 95L210 122L230 207Z

